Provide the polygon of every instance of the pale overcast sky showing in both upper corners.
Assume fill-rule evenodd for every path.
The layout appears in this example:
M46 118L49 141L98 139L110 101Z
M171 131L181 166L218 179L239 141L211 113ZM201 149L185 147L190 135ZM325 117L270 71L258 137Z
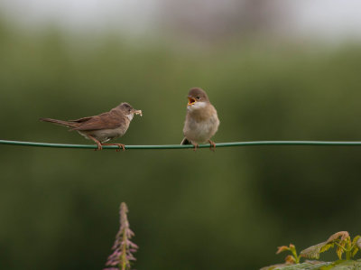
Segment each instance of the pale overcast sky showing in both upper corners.
M219 0L219 5L227 1ZM285 23L297 33L361 37L361 0L284 0L284 4L292 13ZM18 23L32 27L57 23L75 31L109 27L148 31L156 27L161 5L160 0L0 0L1 14Z

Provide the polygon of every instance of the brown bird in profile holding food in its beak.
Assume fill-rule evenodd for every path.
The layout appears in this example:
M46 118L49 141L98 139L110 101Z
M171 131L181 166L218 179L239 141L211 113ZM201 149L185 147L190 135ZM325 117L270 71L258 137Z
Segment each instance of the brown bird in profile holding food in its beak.
M129 103L123 102L110 111L98 116L82 117L76 120L58 120L40 118L41 121L69 127L69 131L76 130L80 135L97 143L97 149L102 150L102 145L117 145L116 151L123 149L125 144L104 144L111 139L125 135L134 115L142 116L142 110L136 110Z

